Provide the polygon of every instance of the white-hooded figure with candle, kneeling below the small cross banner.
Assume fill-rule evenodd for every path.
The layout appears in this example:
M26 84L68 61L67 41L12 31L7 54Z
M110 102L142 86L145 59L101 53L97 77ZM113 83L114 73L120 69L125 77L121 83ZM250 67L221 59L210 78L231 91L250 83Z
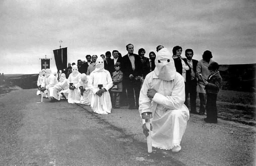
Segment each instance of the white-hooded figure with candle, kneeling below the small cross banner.
M48 98L50 96L49 94L49 88L53 87L55 84L58 83L57 78L52 74L51 69L45 70L45 77L42 82L42 88L41 91L45 93L45 97ZM43 95L44 96L44 95Z

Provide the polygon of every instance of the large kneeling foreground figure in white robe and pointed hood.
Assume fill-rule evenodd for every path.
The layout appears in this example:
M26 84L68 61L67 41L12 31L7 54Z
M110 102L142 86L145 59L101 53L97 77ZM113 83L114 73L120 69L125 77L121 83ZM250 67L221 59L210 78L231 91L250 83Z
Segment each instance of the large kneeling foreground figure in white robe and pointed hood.
M162 48L157 53L155 65L155 70L146 76L142 85L139 112L152 112L152 146L179 152L190 116L189 109L184 104L184 79L176 72L172 55L167 48ZM145 125L143 132L144 127Z

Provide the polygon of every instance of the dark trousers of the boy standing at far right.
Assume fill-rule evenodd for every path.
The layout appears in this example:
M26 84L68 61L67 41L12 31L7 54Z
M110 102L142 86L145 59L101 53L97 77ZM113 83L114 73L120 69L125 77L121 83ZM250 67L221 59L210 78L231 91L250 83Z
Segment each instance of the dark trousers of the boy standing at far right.
M217 94L207 93L206 114L207 120L217 122L217 107L216 107Z

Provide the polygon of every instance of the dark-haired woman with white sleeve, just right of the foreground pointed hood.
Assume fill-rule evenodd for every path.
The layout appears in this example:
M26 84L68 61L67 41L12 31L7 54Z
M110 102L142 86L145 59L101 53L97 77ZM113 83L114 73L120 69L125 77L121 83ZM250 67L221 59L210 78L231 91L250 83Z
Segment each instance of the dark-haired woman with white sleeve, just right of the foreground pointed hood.
M181 53L182 53L181 46L177 45L173 47L173 60L174 60L176 71L183 76L184 81L186 82L186 70L189 70L190 67L187 64L187 61L185 61L186 58L181 57Z

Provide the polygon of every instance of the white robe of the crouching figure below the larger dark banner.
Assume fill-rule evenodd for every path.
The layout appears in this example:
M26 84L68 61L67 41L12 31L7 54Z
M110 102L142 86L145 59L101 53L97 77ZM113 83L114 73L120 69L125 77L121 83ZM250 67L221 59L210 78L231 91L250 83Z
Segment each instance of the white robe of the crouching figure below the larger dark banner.
M64 93L66 97L68 97L69 92L69 81L64 79L63 81L57 83L53 87L49 87L50 96L56 98L57 100L61 100L61 93Z

